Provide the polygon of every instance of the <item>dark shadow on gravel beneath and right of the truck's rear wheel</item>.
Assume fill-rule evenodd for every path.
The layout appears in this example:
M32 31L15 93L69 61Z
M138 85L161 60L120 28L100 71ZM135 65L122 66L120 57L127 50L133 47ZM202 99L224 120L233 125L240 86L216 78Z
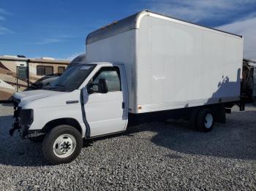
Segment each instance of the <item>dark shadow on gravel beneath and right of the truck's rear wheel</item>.
M154 131L151 141L160 147L191 155L205 155L242 160L256 159L256 111L233 112L226 124L216 124L209 133L198 132L189 122L159 122L130 128L131 136L140 131Z

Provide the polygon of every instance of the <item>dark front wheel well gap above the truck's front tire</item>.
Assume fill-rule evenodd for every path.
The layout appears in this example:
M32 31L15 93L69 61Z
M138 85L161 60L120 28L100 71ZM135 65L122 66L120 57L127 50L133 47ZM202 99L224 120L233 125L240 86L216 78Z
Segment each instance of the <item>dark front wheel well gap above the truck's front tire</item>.
M47 133L49 130L55 128L58 125L70 125L73 128L76 128L80 133L82 133L82 128L79 122L73 118L60 118L56 120L51 120L50 122L46 123L44 128L42 128L42 132Z

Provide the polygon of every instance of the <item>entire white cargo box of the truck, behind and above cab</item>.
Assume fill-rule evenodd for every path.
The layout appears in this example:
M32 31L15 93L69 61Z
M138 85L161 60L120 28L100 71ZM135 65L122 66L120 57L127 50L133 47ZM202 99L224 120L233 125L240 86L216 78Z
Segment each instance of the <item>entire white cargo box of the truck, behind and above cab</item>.
M129 112L240 98L243 37L143 11L92 32L89 62L124 63Z

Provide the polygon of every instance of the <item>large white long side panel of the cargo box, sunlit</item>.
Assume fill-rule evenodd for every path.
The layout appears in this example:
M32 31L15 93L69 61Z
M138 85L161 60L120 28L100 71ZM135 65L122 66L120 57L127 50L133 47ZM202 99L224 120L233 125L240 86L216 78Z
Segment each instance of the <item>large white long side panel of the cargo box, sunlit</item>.
M241 37L151 16L137 35L136 112L238 100Z

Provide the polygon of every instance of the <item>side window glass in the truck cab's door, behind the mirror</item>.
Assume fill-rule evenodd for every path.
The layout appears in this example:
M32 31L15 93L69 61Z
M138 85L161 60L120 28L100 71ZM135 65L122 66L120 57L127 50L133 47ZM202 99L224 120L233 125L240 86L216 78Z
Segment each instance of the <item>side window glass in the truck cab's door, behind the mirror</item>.
M93 78L94 92L97 92L99 79L106 79L109 92L121 91L120 72L118 67L104 67L97 72Z

